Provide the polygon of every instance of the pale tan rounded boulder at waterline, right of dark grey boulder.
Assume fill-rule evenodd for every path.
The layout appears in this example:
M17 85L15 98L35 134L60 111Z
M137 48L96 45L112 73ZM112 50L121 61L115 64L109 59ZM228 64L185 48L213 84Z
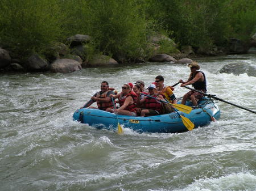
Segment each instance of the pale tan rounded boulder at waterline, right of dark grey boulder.
M81 69L81 64L71 59L58 59L50 66L52 73L72 73L73 71Z

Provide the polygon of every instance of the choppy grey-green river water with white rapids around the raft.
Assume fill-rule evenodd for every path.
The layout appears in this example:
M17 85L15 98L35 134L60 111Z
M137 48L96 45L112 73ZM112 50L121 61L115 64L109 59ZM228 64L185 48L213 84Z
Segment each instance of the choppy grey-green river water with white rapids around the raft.
M197 60L208 93L256 111L256 77L219 73L256 55ZM189 68L143 63L71 74L0 74L0 190L256 190L256 115L218 102L221 118L179 134L97 130L72 114L103 80L121 90L156 75L187 80ZM188 90L176 86L176 97Z

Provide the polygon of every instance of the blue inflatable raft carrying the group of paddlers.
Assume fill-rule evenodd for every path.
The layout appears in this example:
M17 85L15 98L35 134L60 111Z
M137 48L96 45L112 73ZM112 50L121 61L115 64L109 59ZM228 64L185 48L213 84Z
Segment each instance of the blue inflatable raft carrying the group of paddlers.
M210 117L220 118L220 110L214 100L203 97L198 104L197 107L192 107L193 109L189 114L179 111L181 116L187 117L195 124L195 128L210 124ZM188 101L186 105L192 106L191 102ZM179 133L188 130L179 114L173 112L150 117L118 115L118 121L123 128L129 128L139 133ZM100 109L78 109L73 114L73 119L97 129L117 130L116 115Z

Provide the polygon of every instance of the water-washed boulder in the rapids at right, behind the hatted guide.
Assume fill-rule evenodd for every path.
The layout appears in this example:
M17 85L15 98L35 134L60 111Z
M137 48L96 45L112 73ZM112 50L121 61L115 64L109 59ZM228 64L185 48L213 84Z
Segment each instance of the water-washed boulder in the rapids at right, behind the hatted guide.
M227 65L223 66L220 70L220 73L228 73L234 75L240 75L247 73L247 75L251 77L256 77L256 67L251 65L250 63L228 63Z

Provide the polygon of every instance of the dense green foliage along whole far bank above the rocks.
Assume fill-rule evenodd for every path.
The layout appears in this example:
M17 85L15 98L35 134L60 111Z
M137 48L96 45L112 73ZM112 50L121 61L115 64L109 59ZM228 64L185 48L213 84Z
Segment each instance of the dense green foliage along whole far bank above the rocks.
M249 41L255 26L255 0L0 1L0 46L22 57L80 33L93 37L91 55L133 60L150 56L155 32L179 46L209 47L232 37ZM163 41L158 51L174 50Z

